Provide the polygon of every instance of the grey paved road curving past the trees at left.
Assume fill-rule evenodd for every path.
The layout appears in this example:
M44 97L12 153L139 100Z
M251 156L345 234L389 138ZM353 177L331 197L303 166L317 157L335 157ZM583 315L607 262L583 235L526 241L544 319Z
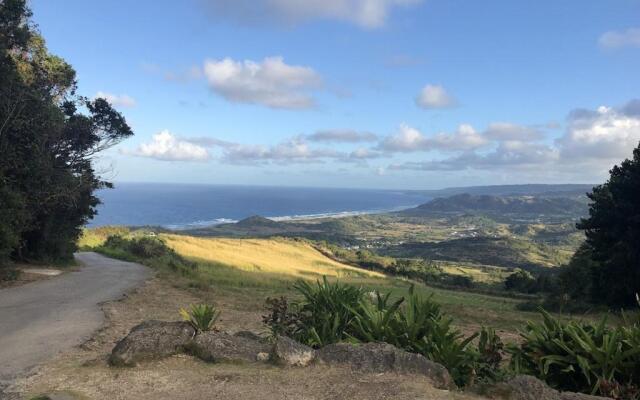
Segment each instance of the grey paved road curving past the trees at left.
M140 264L96 253L77 253L76 259L84 265L78 271L0 290L0 387L82 343L102 325L99 303L119 298L150 276Z

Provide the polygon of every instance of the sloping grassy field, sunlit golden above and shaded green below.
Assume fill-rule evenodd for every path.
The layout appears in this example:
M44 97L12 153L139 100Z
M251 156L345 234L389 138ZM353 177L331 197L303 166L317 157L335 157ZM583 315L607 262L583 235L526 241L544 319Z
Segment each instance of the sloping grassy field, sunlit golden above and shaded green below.
M80 244L100 245L105 232L88 231ZM142 236L144 231L129 232L125 236ZM212 291L217 297L232 299L240 311L262 310L267 297L295 297L293 283L297 279L315 280L328 275L360 285L367 290L389 291L393 296L405 295L414 284L405 279L388 277L379 273L353 268L324 256L304 241L295 239L223 239L197 238L186 235L160 234L169 247L178 254L196 262L197 267L183 276L176 276L165 264L151 263L160 276L171 279L176 285L202 291ZM126 257L123 254L107 255ZM490 279L492 271L470 271L464 265L453 266L461 274L483 274ZM495 279L495 278L493 278ZM416 284L416 290L425 296L433 296L452 317L456 325L471 331L480 325L490 325L507 334L515 334L528 319L537 319L536 313L516 310L520 300L499 296L446 290Z

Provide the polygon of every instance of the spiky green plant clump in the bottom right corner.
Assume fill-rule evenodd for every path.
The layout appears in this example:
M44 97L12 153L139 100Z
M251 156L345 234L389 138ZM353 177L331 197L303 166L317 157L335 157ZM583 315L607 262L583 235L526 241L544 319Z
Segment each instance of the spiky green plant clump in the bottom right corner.
M543 321L529 322L522 343L508 349L516 373L535 375L561 390L604 396L637 390L640 325L612 328L605 319L563 322L541 313Z

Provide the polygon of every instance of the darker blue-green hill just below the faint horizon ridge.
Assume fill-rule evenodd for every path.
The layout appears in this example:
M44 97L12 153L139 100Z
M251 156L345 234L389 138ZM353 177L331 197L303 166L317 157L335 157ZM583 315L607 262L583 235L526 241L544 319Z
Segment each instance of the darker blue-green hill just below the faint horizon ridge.
M416 208L402 211L405 215L414 216L438 213L581 216L586 212L586 201L579 196L492 196L468 193L436 198Z

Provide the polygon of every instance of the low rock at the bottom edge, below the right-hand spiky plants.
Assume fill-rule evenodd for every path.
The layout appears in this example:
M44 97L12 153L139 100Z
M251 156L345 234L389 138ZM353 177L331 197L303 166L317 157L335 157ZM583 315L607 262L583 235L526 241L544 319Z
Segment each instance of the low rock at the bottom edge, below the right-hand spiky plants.
M540 379L529 375L518 375L496 385L488 393L492 398L506 400L606 400L606 397L584 393L558 392Z

